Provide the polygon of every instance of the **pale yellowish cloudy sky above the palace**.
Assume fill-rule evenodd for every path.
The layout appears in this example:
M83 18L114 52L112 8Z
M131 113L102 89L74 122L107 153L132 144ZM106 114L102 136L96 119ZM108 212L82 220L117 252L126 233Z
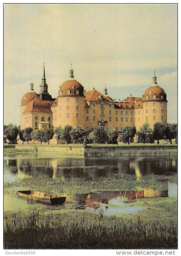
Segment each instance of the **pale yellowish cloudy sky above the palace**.
M157 82L167 93L167 122L177 123L176 4L5 4L4 123L20 124L31 79L58 96L74 77L112 99L142 96Z

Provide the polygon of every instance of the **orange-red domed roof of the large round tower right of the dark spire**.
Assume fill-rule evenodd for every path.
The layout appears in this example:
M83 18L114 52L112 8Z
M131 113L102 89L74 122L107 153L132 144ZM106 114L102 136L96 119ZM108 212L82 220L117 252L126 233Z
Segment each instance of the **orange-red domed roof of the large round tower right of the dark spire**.
M62 83L58 96L84 96L84 87L76 80Z

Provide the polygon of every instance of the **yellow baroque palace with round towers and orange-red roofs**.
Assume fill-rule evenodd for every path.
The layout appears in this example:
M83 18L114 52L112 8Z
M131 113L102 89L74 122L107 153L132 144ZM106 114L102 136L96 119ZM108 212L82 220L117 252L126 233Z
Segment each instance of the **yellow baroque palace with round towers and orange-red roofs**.
M21 129L32 127L48 129L51 127L81 125L84 129L116 129L121 132L124 126L140 126L148 122L153 129L154 123L167 124L167 99L165 91L158 86L154 73L152 86L142 97L127 97L122 102L111 99L104 88L101 94L95 88L86 92L75 80L74 70L69 70L69 80L65 81L53 99L48 93L48 85L43 69L40 93L34 92L33 82L30 92L21 101Z

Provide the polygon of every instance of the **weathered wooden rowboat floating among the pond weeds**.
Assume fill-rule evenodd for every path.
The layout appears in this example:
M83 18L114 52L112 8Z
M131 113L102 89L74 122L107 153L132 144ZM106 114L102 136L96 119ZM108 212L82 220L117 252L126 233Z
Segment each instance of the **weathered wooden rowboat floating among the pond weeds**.
M18 191L17 195L30 200L51 204L63 204L66 200L66 197L61 197L55 194L48 194L34 190Z

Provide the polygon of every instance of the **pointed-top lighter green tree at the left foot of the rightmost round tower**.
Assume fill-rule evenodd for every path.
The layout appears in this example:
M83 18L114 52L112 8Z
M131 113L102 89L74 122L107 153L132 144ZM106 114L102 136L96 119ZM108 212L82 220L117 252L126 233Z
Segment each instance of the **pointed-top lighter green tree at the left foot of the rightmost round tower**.
M153 131L152 129L149 127L148 123L143 124L140 127L140 130L137 132L138 135L138 143L142 142L142 143L154 143L154 139L153 139Z

